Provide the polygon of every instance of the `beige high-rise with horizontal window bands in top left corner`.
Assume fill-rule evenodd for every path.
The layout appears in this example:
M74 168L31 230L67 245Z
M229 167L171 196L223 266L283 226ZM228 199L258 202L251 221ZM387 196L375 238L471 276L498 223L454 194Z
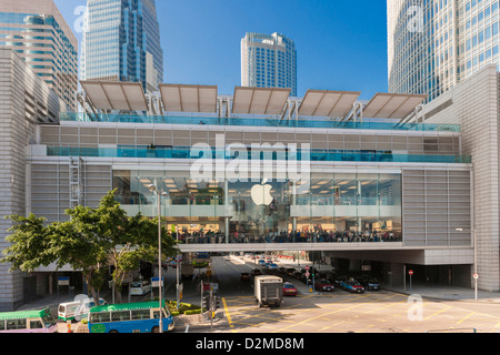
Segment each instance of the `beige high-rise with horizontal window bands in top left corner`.
M0 47L12 49L74 111L78 40L53 0L0 0Z

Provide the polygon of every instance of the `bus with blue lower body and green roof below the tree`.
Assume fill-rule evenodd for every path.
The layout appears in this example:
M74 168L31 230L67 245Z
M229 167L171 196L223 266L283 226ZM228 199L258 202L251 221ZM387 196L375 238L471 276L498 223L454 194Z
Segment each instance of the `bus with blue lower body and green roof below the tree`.
M161 307L163 331L173 331L170 311ZM158 301L111 304L92 307L89 312L90 333L158 333L160 307Z

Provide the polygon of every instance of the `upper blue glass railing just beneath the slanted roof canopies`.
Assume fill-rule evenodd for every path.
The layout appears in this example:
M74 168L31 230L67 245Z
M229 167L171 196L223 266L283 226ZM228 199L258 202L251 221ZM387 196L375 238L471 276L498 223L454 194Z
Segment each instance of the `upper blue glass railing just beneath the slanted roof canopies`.
M140 114L87 114L62 112L61 121L70 122L117 122L117 123L156 123L156 124L208 124L237 126L277 126L307 129L343 129L343 130L397 130L397 131L439 131L460 132L459 124L404 123L399 122L340 122L329 120L278 120L263 118L199 118Z

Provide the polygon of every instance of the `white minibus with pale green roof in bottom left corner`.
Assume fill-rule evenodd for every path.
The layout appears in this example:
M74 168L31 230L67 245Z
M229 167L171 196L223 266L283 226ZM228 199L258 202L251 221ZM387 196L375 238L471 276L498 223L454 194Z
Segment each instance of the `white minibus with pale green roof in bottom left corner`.
M57 333L49 308L0 313L0 333Z

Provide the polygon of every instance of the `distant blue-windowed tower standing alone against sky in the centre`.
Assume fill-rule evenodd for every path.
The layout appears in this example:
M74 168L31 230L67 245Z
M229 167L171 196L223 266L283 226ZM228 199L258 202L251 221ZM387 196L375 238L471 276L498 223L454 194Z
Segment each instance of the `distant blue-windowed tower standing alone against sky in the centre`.
M297 97L297 50L280 33L247 33L241 39L241 85L291 89Z

